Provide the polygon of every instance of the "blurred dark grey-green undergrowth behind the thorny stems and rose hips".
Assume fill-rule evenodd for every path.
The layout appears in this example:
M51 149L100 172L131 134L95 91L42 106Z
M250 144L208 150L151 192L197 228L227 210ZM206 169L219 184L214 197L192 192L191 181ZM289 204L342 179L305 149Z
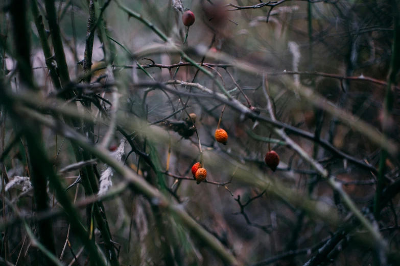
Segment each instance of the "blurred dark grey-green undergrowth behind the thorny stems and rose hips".
M382 149L377 141L371 140L363 130L343 123L342 117L333 116L323 108L316 107L310 101L311 97L307 98L299 91L304 88L311 89L326 100L324 104L354 115L356 120L366 122L368 129L374 132L382 132L383 121L386 121L389 125L386 136L397 147L400 109L398 88L395 85L398 77L390 87L392 94L389 97L393 107L386 118L384 102L391 69L390 61L393 57L392 46L397 50L400 47L398 43L393 45L393 21L399 12L398 2L277 1L271 2L269 6L257 8L257 5L263 2L182 0L183 7L189 8L196 17L194 25L190 26L187 32L185 44L183 41L186 27L182 24L181 12L173 7L174 1L95 2L98 7L105 4L107 6L93 43L91 68L96 70L91 76L93 87L86 88L90 89L90 92L76 93L76 97L73 98L78 102L78 114L83 115L87 106L84 106L85 98L81 96L85 96L85 93L87 97L101 96L93 97L101 103L105 114L99 111L95 104L89 104L89 108L86 109L88 113L85 113L95 121L87 135L89 140L92 138L91 140L95 141L93 145L99 145L98 142L101 142L109 129L108 116L111 112L116 112L117 124L127 134L131 134L129 137L139 151L133 150L133 147L125 142L126 136L121 134L121 130L115 131L111 144L108 145L109 150L115 150L122 141L125 154L122 155L121 163L125 163L143 180L163 191L172 202L187 211L198 226L213 235L224 249L246 265L396 265L399 248L398 196L396 193L390 194L389 203L382 208L380 216L373 218L370 212L377 190L378 171L383 173L384 188L398 185L400 172L397 157L393 154L387 158L382 157ZM151 27L128 15L118 3L123 3L121 5L152 23L168 37L168 42L161 40ZM18 54L13 32L16 29L12 28L10 22L6 8L8 4L8 1L3 1L3 12L0 13L1 47L6 56L3 65L5 76L2 79L9 82L2 90L8 87L11 91L18 92L26 88L20 83L20 73L15 71ZM84 68L78 62L84 59L85 54L89 1L55 1L54 5L69 76L72 84L80 84ZM275 6L271 8L271 5ZM246 6L253 8L237 8ZM44 18L44 27L49 30L43 1L38 0L38 7ZM97 9L99 10L101 9ZM99 13L96 14L96 18L98 15ZM32 44L30 59L34 82L40 88L41 96L56 94L56 88L46 68L43 48L31 10L28 10L27 17L27 31L30 35L27 43ZM100 29L105 29L103 34L106 33L112 38L107 39L106 45L106 37ZM50 37L48 40L53 46ZM201 94L196 88L189 89L179 84L176 85L177 93L150 90L154 86L137 85L177 79L198 83L214 92L219 90L213 79L203 72L197 73L194 66L181 66L177 72L177 68L173 67L171 73L168 68L149 67L153 63L172 65L187 62L171 48L171 43L184 50L195 62L231 64L207 70L212 73L214 79L223 82L224 88L232 97L247 108L248 104L238 88L239 85L251 105L260 110L261 117L271 118L268 96L272 99L276 119L288 127L302 130L302 134L298 134L296 130L286 131L289 137L309 157L322 165L338 184L342 184L343 191L364 211L367 220L374 225L374 230L382 234L388 245L388 262L384 262L380 257L382 254L376 252L379 248L368 241L359 240L368 236L362 226L350 223L354 226L353 230L342 233L343 228L340 225L350 220L352 211L340 199L338 191L332 189L326 178L322 178L304 156L290 145L286 145L287 140L274 131L271 123L250 119L241 110L228 104L221 122L221 127L229 135L228 144L224 146L214 138L224 102L213 94ZM149 52L149 49L153 50ZM112 56L112 62L105 62L104 51L107 57ZM57 64L56 61L53 63ZM146 67L147 72L132 67L136 63ZM247 71L246 66L255 70ZM288 73L289 71L294 72ZM370 82L367 78L373 81ZM113 86L115 84L118 85ZM112 86L118 90L117 111L110 105L112 90L107 88ZM175 90L172 85L168 86ZM79 90L77 88L75 91ZM84 87L81 90L84 90ZM196 184L192 178L192 165L201 161L196 134L188 139L181 138L174 130L166 130L169 127L164 121L145 126L181 108L179 97L185 102L188 93L197 93L189 98L187 104L190 107L186 111L197 116L195 125L203 150L207 181L215 182L214 184ZM49 102L36 102L36 105L41 104ZM50 104L59 107L66 105L55 100L50 101ZM5 144L14 138L17 138L17 141L2 159L2 177L7 175L10 180L15 176L30 177L27 143L25 137L17 135L15 127L15 123L20 121L17 122L11 117L6 119L8 115L4 106L3 103L0 120L3 144L0 153L4 151ZM34 109L40 110L39 107ZM49 112L50 118L57 118ZM168 118L168 121L182 123L186 118L186 112L181 111ZM67 188L77 180L80 173L78 170L66 173L59 171L77 162L74 148L62 134L55 134L53 130L44 126L40 128L43 134L42 144L53 170L58 173L57 176ZM304 138L305 134L311 134L312 138ZM270 143L269 147L270 139L276 141ZM319 140L332 146L326 148ZM269 149L275 150L280 156L276 172L272 172L264 162ZM335 150L361 163L352 163ZM143 156L144 154L146 156ZM96 158L95 155L92 156ZM380 167L382 158L384 163ZM104 163L106 162L99 159L96 165L90 166L98 178L107 168ZM360 164L365 164L365 167ZM123 182L124 176L114 174L111 180L114 188ZM15 205L24 217L35 215L35 204L30 191L32 190L22 192L20 188L12 187L3 193L3 197L12 202L4 203L3 200L3 223L12 221L16 216L9 204ZM49 206L60 209L52 187L47 194ZM142 194L137 188L126 188L103 202L102 211L107 215L109 232L121 265L224 264L220 254L199 240L193 231L182 224L179 217L170 215L168 211L160 211L151 198ZM85 191L82 185L78 184L69 189L67 195L71 202L75 202L85 198ZM253 200L249 201L248 205L243 205L248 199ZM77 211L82 224L90 225L90 219L87 221L86 217L90 208L85 210L81 207ZM321 218L321 214L332 215L333 219L331 220L331 216ZM96 243L100 250L107 254L103 235L97 228L98 222L93 223ZM28 224L40 240L36 231L38 223L29 219ZM80 265L87 263L89 253L80 241L78 231L73 227L69 229L68 217L53 217L51 224L53 228L49 230L52 229L54 233L55 255L60 261L69 265L78 264L72 262L74 256L77 256ZM7 225L2 227L3 263L49 263L35 242L27 237L26 227L19 222ZM343 237L337 245L328 249L327 241L334 239L337 234L343 234ZM66 247L66 238L70 242L69 248ZM318 257L321 247L327 253Z

